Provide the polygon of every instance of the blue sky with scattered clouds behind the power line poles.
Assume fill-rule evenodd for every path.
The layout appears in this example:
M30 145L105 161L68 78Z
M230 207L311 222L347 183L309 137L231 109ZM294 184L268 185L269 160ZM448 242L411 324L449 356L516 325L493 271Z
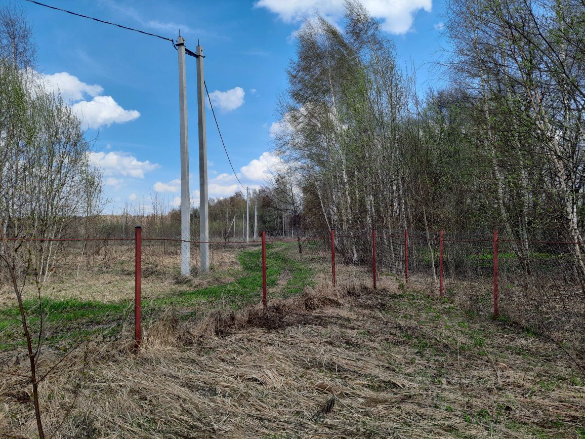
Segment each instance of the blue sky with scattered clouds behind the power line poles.
M232 163L245 186L259 187L278 158L270 127L278 118L285 68L295 57L294 32L319 11L340 23L342 0L46 0L204 47L205 80ZM402 66L414 63L419 90L436 85L433 61L445 45L444 6L436 0L364 0L381 20ZM97 138L92 161L105 176L106 211L150 205L157 190L168 204L180 196L177 52L170 42L22 2L33 25L37 70ZM195 59L187 58L192 204L198 204ZM229 196L239 185L208 110L209 193Z

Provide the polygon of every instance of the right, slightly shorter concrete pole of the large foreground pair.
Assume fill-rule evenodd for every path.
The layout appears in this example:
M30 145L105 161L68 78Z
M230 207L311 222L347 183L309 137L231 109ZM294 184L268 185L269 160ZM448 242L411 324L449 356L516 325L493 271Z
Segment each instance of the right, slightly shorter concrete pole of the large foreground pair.
M197 112L199 121L199 255L201 271L209 270L209 212L207 201L207 134L205 131L205 80L203 47L197 44Z

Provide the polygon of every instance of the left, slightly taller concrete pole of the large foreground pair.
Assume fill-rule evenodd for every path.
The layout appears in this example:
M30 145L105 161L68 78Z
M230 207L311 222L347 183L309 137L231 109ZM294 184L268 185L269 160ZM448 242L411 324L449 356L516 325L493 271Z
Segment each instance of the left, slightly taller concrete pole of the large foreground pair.
M181 275L191 274L191 201L189 200L189 135L187 129L187 76L185 39L178 36L179 54L179 125L181 129Z

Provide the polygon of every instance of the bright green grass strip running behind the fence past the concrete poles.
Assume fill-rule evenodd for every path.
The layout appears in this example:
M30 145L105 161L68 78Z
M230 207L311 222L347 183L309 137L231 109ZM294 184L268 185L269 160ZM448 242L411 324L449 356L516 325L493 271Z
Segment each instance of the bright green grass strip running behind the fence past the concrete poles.
M295 246L290 243L271 243L266 246L266 283L270 297L287 297L301 293L305 286L312 284L312 270L301 258L292 257ZM185 317L203 313L215 304L227 303L234 309L246 304L259 302L262 291L261 249L239 253L242 266L239 277L233 282L207 286L201 289L168 294L142 301L143 319L156 317L169 306L183 308ZM281 278L286 279L280 280ZM280 280L280 282L279 282ZM95 300L50 299L26 300L26 318L31 332L39 331L43 315L46 341L55 344L60 341L75 341L80 337L97 334L112 335L121 330L122 324L133 313L133 302L128 300L104 303ZM25 344L22 325L17 307L4 308L0 314L0 348L9 349ZM14 318L11 318L14 317Z

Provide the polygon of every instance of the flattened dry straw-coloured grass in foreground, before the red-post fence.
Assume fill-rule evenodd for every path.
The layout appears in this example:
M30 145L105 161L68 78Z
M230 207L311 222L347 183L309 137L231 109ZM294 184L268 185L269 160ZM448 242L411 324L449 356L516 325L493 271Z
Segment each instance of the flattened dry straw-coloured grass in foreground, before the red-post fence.
M41 391L62 438L585 435L583 377L555 345L395 285L168 313L137 354L80 348ZM0 431L33 437L26 392L2 376Z

